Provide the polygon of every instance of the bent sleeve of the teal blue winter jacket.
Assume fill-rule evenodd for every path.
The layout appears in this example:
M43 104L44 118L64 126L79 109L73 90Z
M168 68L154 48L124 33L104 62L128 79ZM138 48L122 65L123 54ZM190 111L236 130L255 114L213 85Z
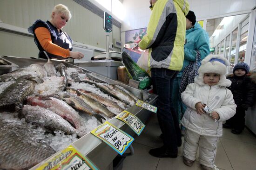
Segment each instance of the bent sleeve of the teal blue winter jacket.
M193 32L191 32L193 33ZM209 55L210 45L209 45L209 36L206 32L202 32L198 35L198 38L195 43L195 49L200 51L201 60ZM184 59L189 61L195 61L196 50L184 48Z

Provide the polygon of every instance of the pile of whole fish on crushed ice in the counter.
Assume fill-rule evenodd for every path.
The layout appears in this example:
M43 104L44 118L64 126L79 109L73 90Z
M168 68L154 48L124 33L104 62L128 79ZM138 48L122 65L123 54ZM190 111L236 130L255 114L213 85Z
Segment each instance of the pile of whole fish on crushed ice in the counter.
M93 73L63 63L54 66L52 60L0 75L0 88L1 113L18 115L47 133L61 131L77 138L92 130L87 126L90 119L98 125L138 100ZM19 125L0 118L0 169L28 169L56 151L34 138L25 121Z

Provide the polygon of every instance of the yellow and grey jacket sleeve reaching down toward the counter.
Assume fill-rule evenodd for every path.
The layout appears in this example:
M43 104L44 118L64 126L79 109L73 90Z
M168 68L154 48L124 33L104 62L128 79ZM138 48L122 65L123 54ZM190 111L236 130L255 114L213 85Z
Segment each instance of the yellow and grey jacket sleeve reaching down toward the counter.
M162 23L164 20L163 23L165 23L166 21L167 16L164 16L164 9L166 8L166 3L168 3L168 1L164 0L158 0L155 3L149 19L147 34L143 36L139 43L139 47L142 50L148 49L153 43L158 44L157 41L160 41L162 39L162 36L164 34L159 34L159 29L162 27L160 22Z

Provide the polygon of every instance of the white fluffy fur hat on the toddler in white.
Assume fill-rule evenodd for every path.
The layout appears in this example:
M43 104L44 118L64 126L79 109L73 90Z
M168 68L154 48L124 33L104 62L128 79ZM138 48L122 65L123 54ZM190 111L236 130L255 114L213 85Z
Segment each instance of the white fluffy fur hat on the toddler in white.
M203 75L205 73L216 73L220 75L218 85L225 87L231 85L231 82L225 76L228 73L229 66L229 61L226 58L220 55L208 55L202 60L201 64L198 69L198 76L195 77L195 82L203 85Z

